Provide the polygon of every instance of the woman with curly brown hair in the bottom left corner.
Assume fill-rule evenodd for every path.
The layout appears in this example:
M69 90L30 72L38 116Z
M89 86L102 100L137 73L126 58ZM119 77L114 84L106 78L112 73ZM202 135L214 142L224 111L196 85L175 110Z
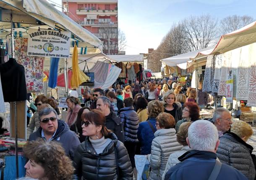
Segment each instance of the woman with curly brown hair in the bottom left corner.
M39 180L71 180L74 172L72 161L56 141L41 138L27 142L23 148L28 162L24 166L26 177Z

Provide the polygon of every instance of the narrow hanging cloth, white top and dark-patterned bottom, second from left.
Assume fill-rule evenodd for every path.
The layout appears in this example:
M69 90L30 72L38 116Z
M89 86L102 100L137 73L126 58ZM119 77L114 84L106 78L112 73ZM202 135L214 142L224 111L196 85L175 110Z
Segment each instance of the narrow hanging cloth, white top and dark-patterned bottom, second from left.
M222 66L222 54L217 55L215 59L215 70L214 70L214 78L212 83L212 92L214 93L217 93L219 89L221 66Z

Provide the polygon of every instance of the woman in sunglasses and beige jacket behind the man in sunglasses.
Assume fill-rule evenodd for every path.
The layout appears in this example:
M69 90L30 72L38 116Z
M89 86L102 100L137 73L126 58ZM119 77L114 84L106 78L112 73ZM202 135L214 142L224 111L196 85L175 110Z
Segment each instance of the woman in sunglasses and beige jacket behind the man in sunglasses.
M33 116L31 117L31 119L29 121L29 125L27 127L27 138L29 138L29 135L34 131L35 127L36 127L36 130L40 127L40 120L38 118L38 112L39 112L42 104L47 104L47 97L44 96L43 94L40 94L35 99L34 105L37 107L37 112L35 112L33 114ZM44 107L46 107L46 106L47 105L44 105ZM49 105L48 107L51 107L51 106Z

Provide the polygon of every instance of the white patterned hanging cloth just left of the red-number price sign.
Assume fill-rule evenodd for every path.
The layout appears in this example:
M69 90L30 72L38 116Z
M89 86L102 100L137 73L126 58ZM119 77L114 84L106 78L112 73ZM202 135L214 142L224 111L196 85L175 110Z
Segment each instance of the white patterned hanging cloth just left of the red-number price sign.
M224 53L222 56L222 68L219 79L218 96L226 96L227 75L231 70L231 51Z

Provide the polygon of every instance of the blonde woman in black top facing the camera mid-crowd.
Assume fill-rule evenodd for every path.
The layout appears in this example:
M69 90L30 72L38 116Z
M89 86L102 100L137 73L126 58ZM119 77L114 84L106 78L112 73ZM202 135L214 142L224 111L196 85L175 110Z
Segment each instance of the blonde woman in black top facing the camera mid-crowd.
M182 106L176 102L176 96L173 92L168 91L164 96L165 112L171 114L175 119L175 124L182 119Z

